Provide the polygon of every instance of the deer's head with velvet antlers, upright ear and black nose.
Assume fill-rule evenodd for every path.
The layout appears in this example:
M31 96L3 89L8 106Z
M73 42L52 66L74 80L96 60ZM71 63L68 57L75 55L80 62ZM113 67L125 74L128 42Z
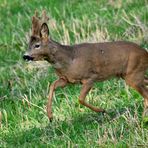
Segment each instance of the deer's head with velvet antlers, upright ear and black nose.
M38 17L37 11L32 17L32 32L29 40L28 50L24 54L24 60L49 60L49 54L54 49L54 42L49 38L49 28L47 22L49 17L46 11Z

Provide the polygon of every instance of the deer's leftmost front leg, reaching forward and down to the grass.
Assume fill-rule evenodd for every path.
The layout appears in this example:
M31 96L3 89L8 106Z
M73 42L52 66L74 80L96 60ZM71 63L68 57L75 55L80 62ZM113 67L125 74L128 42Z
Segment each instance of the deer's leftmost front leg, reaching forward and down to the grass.
M54 90L57 87L64 87L67 84L67 80L63 79L63 78L59 78L58 80L54 81L51 86L50 86L50 92L49 92L49 96L48 96L48 103L47 103L47 115L49 119L52 119L52 98L53 98L53 93Z

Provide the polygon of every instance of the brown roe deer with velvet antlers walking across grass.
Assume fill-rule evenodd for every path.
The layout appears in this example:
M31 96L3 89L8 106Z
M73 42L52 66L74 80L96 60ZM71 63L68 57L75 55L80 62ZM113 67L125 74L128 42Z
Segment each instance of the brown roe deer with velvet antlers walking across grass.
M57 87L68 83L81 83L80 104L95 112L105 110L88 104L85 97L94 82L117 76L144 97L144 116L148 116L148 52L135 43L116 41L61 45L49 37L48 17L43 11L32 17L32 34L25 60L47 60L55 68L59 79L50 86L47 104L48 118L52 119L52 98Z

